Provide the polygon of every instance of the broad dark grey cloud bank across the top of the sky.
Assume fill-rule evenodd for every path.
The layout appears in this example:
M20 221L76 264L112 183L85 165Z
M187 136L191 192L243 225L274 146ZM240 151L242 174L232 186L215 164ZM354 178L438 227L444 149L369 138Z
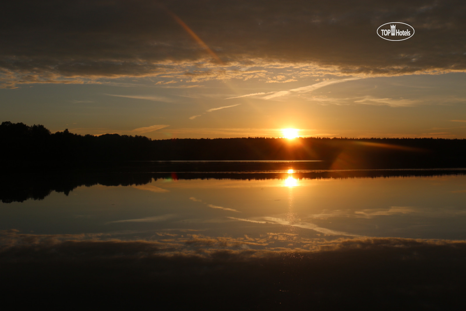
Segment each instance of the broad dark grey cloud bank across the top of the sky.
M465 71L465 14L466 3L453 0L9 1L0 12L0 79L3 87L158 75L262 79L264 68L284 64L294 67L283 81L311 65L307 75ZM381 39L377 28L390 21L410 24L415 35Z

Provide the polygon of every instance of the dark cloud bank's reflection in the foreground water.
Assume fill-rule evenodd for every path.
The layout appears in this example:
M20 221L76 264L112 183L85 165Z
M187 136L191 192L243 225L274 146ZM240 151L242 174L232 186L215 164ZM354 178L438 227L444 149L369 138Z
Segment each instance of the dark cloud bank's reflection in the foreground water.
M73 240L17 232L4 237L2 293L15 297L21 289L31 307L50 304L50 293L56 296L54 303L73 301L80 309L96 304L130 309L157 301L177 309L190 309L196 302L210 310L228 302L227 308L234 310L274 310L277 305L302 310L316 301L320 310L400 304L406 309L437 305L456 310L464 302L465 241L358 238L315 241L313 249L271 245L256 250L267 242L189 235L167 248L164 244L171 242ZM269 237L272 242L273 237L295 235L264 239ZM183 299L173 299L173 293Z

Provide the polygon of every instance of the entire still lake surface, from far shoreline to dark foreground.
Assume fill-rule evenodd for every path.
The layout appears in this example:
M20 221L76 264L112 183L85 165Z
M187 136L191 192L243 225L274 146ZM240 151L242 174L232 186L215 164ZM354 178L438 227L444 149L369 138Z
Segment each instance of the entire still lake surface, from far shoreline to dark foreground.
M9 176L1 290L57 309L463 304L464 170L294 165Z

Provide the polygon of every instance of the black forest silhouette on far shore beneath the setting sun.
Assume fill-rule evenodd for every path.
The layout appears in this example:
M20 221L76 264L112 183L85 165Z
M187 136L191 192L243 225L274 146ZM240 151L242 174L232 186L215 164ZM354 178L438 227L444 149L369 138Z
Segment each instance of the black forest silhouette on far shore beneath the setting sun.
M43 125L3 122L1 158L12 169L129 165L130 161L319 160L318 169L465 167L466 139L174 138L51 133ZM131 164L141 166L141 164Z

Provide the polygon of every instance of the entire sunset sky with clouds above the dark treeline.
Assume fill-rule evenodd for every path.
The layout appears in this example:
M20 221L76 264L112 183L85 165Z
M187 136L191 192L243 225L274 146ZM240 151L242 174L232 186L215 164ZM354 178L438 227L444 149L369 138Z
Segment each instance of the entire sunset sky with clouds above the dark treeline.
M166 138L466 138L464 1L17 0L0 122ZM377 35L403 22L403 41Z

